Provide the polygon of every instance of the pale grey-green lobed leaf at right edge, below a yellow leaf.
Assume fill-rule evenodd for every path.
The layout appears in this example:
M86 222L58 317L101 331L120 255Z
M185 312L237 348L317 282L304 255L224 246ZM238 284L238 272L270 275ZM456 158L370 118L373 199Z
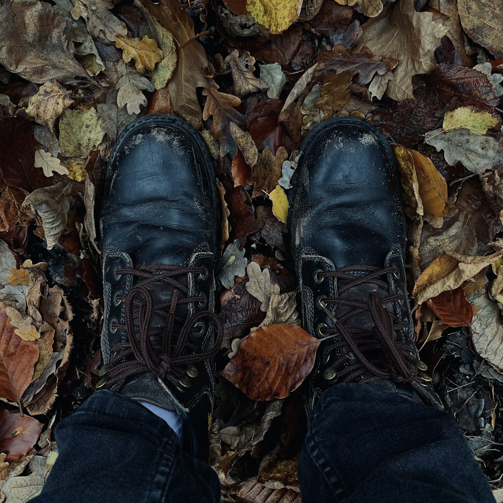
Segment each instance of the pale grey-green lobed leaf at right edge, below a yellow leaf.
M503 160L498 152L499 142L491 136L471 135L468 129L443 131L442 128L426 133L425 142L438 152L444 151L450 166L461 162L467 170L481 175L492 170Z

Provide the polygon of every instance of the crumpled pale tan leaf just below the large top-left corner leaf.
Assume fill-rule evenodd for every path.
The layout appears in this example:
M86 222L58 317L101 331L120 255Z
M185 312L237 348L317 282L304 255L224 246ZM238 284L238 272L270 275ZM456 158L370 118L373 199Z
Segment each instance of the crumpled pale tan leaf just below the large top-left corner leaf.
M54 132L54 123L72 103L66 89L56 80L49 80L30 98L26 113Z

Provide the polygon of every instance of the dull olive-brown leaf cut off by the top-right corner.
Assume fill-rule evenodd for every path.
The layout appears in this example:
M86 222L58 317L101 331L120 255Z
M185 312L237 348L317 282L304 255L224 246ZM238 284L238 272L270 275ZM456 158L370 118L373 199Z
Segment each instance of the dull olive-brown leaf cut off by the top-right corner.
M503 56L503 14L489 0L458 0L461 25L466 34L495 57Z

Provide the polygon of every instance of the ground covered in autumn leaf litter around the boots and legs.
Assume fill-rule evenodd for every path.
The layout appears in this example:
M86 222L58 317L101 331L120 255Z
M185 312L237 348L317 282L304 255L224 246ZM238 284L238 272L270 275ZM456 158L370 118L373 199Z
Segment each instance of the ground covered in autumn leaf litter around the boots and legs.
M2 2L2 500L39 490L54 427L99 380L104 166L120 131L155 113L201 132L222 197L210 461L223 501L300 501L301 384L318 342L299 327L287 194L303 137L341 116L370 121L393 145L416 343L500 498L495 18L501 8L474 0L306 0L275 12L263 0Z

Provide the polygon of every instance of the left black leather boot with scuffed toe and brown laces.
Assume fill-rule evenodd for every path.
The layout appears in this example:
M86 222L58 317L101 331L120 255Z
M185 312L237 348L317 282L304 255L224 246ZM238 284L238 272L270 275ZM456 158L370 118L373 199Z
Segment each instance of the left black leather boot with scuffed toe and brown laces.
M176 411L184 449L208 457L220 202L213 165L185 121L149 115L119 135L101 211L104 366L97 388Z

